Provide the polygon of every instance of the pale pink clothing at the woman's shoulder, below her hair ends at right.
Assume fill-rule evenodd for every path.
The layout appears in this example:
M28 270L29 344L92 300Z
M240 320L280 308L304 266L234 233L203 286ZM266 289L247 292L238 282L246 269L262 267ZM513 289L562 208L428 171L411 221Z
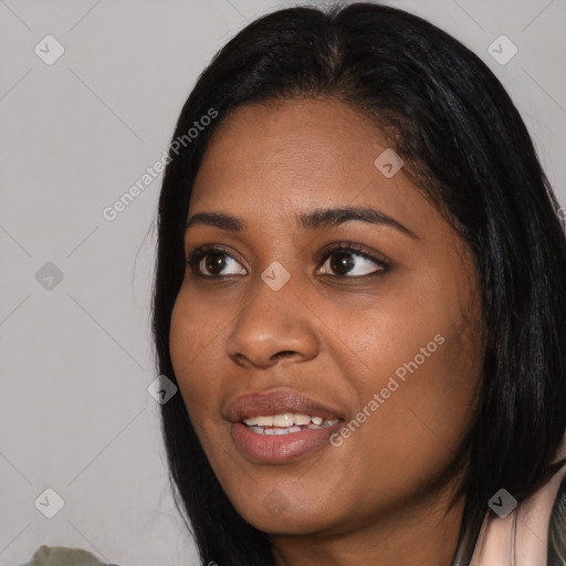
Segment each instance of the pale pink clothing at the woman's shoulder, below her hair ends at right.
M566 433L553 463L564 458ZM566 464L505 517L490 511L470 566L546 566L551 513L564 476Z

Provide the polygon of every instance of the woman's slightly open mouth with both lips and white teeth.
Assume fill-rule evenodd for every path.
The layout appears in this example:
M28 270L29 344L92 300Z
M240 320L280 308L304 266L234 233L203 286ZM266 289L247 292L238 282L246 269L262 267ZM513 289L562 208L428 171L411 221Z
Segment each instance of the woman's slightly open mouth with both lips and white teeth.
M287 463L328 447L344 422L337 410L290 389L245 394L227 415L237 449L263 464Z

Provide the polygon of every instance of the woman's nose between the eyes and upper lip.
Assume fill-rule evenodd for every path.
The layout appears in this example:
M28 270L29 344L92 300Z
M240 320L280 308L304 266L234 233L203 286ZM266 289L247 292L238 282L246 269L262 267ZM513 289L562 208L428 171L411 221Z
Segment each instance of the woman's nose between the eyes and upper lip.
M227 339L227 354L238 365L266 368L281 358L306 361L319 349L316 315L296 296L293 277L273 291L258 277Z

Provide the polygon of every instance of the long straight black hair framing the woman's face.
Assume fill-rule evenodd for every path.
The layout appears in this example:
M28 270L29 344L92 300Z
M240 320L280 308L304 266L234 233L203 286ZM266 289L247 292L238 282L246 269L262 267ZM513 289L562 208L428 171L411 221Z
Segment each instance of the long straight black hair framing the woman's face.
M465 507L452 563L467 565L490 497L504 488L521 502L556 470L549 464L566 428L566 239L504 87L430 22L366 2L287 8L251 22L217 53L180 113L172 139L185 139L182 148L171 144L159 199L157 371L177 382L171 311L191 188L211 135L243 104L301 97L334 97L371 119L475 260L485 342L479 401L461 442ZM189 139L206 115L218 117ZM232 506L180 395L161 406L161 419L175 501L202 564L274 565L269 535Z

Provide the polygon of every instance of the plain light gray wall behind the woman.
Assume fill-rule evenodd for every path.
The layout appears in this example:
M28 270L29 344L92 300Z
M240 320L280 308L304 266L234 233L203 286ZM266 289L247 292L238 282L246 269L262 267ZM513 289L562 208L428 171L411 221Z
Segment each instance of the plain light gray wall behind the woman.
M490 65L564 203L566 1L388 3ZM161 176L114 221L102 211L161 157L211 55L277 6L291 3L0 0L0 566L41 544L122 566L197 564L147 391ZM48 34L65 50L51 65L34 52ZM505 65L488 52L501 34L518 48ZM48 262L63 274L50 290L35 275ZM48 488L64 500L52 518L34 504L55 504Z

